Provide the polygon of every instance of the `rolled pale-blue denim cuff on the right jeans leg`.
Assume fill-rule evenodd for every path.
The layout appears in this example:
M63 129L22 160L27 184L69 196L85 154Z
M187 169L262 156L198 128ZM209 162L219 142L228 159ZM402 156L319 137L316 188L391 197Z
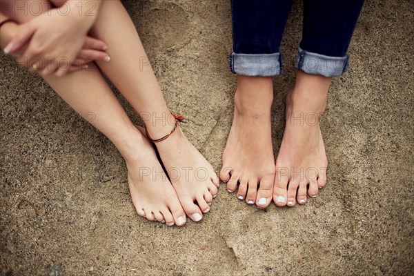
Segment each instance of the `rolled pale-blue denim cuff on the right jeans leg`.
M308 74L338 77L344 74L348 68L348 59L347 55L345 57L329 57L308 52L299 47L295 66Z

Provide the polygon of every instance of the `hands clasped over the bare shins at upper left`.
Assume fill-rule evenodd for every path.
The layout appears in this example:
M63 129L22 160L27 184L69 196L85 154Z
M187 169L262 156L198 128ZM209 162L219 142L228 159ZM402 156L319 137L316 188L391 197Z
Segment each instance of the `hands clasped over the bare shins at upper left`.
M62 16L57 10L50 10L21 24L5 52L14 54L28 44L23 55L17 58L19 63L42 75L63 76L73 66L81 68L81 64L92 60L110 60L103 52L107 48L105 43L86 36L90 26L77 14Z

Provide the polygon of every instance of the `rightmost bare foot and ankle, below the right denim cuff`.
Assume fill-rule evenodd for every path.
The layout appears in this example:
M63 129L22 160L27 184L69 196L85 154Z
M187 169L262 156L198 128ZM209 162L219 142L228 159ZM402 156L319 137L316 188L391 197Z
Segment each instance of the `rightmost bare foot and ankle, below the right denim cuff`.
M286 98L286 127L276 160L273 201L277 206L306 203L326 185L326 158L319 117L326 105L331 78L297 73Z

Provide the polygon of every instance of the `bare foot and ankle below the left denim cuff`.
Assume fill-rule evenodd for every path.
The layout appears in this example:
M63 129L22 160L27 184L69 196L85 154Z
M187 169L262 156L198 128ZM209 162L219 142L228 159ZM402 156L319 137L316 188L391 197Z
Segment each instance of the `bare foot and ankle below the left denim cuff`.
M229 193L239 184L237 198L261 208L272 201L275 179L270 125L272 101L272 78L238 77L233 125L220 172Z

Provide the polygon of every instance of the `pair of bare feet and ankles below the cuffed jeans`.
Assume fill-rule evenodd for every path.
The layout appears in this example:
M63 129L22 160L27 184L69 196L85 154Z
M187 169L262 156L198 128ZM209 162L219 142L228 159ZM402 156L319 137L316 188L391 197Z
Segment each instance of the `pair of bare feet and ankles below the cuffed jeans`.
M238 77L233 126L220 179L237 198L266 208L305 204L326 185L328 161L319 127L331 78L298 71L286 99L284 137L273 161L270 110L273 78Z

